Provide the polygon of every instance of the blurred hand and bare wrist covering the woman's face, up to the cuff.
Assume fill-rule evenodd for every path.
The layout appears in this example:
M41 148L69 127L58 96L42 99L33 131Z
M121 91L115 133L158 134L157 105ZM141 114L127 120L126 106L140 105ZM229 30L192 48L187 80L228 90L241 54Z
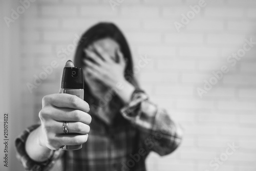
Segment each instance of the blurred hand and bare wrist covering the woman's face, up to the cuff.
M84 70L106 86L116 88L116 93L122 101L129 103L135 87L124 78L126 62L121 51L117 50L118 62L98 45L90 46L84 52L87 54Z

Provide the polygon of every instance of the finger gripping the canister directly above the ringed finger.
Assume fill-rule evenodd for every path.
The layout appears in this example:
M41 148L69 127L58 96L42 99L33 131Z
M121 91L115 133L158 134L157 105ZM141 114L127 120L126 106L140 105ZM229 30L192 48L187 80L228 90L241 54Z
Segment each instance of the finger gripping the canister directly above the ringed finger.
M44 111L46 114L51 115L50 117L56 121L74 121L83 122L90 124L92 121L91 115L80 110L73 110L68 108L46 108Z

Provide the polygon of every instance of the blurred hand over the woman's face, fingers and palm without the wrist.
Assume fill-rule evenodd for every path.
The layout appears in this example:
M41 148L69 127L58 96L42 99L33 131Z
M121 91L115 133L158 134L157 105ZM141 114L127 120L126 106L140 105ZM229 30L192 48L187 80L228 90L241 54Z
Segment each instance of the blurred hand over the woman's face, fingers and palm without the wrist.
M124 69L126 62L119 49L116 53L118 62L116 62L113 57L105 52L99 45L93 45L93 48L91 46L84 49L84 52L87 54L87 58L84 59L84 63L86 64L84 70L104 83L105 86L114 88L117 87L117 83L120 84L125 81Z

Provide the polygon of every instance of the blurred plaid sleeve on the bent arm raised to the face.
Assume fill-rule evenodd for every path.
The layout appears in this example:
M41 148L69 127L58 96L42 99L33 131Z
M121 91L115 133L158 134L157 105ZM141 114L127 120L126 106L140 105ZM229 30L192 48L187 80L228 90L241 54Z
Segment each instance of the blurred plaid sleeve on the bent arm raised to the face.
M161 156L172 153L181 143L180 125L165 109L151 102L142 90L133 92L130 103L121 109L121 114L139 128L146 148Z

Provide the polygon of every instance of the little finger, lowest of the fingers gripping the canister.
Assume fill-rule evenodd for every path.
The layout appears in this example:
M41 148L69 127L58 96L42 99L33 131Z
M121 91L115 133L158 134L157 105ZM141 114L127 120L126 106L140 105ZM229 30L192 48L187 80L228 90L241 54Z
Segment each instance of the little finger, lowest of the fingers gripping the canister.
M88 134L67 134L67 135L57 135L55 137L59 144L62 145L78 145L83 144L88 140Z

